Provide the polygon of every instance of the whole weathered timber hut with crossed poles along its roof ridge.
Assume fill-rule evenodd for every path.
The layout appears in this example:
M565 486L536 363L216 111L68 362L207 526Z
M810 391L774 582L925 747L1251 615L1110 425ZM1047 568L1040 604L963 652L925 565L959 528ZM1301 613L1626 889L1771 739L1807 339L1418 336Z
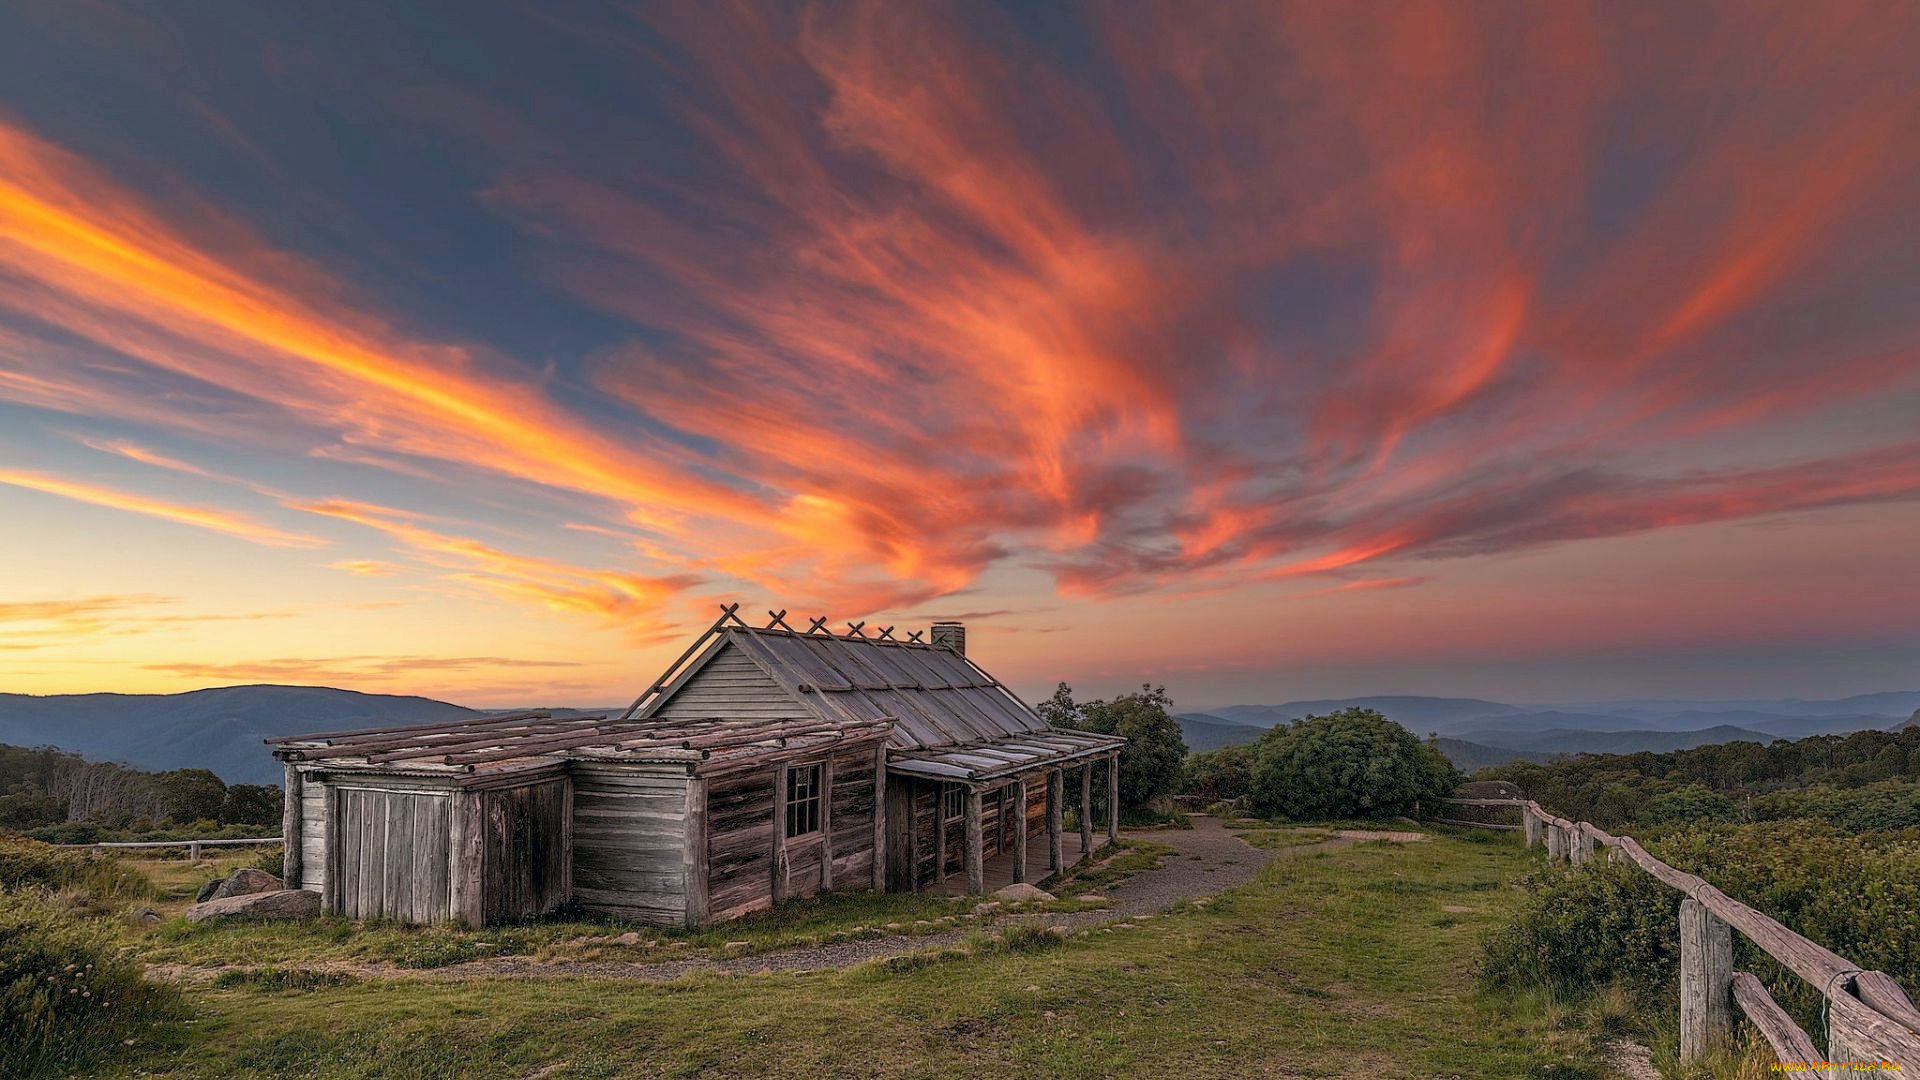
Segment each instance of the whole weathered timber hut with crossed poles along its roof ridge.
M1050 871L1092 849L1094 767L1116 790L1123 742L1048 728L958 625L839 636L737 605L620 717L273 740L288 882L355 919L476 926L568 901L701 926L828 888L981 892L989 865L1029 880L1029 838Z

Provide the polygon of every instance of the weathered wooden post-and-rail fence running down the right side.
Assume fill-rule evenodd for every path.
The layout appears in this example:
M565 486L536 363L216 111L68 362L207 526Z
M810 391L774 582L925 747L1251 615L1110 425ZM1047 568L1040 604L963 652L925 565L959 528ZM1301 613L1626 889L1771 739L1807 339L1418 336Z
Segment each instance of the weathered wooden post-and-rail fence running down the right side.
M1555 817L1532 799L1444 799L1461 807L1513 807L1526 846L1546 844L1548 857L1584 865L1601 849L1672 886L1680 901L1680 1059L1693 1061L1734 1034L1734 1007L1766 1038L1774 1057L1793 1072L1839 1076L1860 1072L1845 1063L1920 1068L1920 1009L1891 976L1862 970L1839 953L1788 930L1774 919L1740 903L1705 878L1655 859L1632 836L1613 836L1592 822ZM1452 821L1486 828L1486 822ZM1498 826L1496 826L1498 828ZM1734 938L1740 930L1782 967L1803 978L1826 999L1826 1059L1749 972L1734 970ZM1908 1072L1910 1074L1910 1072Z

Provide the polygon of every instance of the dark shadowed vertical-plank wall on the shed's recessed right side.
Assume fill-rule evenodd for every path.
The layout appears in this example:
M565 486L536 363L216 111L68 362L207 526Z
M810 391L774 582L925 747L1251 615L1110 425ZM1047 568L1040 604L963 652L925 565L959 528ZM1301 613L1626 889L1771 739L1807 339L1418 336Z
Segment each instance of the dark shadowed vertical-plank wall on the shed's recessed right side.
M572 780L559 778L482 792L480 909L488 922L545 915L566 903L570 788Z

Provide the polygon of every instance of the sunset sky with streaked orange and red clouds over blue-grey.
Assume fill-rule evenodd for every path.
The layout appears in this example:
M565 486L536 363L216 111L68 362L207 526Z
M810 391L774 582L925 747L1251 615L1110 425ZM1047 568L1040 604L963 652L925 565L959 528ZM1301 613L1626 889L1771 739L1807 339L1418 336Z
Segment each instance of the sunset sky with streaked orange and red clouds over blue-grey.
M0 10L0 690L1920 688L1920 4Z

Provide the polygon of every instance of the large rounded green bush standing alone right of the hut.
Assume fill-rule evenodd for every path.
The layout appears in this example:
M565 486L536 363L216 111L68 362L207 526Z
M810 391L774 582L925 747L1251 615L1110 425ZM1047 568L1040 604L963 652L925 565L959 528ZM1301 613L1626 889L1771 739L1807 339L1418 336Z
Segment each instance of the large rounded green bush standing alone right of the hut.
M1411 817L1459 782L1453 763L1373 709L1275 728L1254 744L1254 809L1296 821Z

